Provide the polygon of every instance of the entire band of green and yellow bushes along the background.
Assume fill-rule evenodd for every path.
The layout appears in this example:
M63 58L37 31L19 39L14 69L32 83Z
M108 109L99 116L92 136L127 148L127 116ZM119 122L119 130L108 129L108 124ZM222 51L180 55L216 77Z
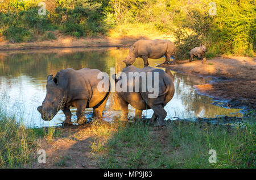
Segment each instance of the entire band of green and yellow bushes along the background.
M180 59L200 44L207 45L208 57L254 56L255 1L214 0L216 15L210 15L212 1L44 0L47 11L40 16L38 0L5 0L0 2L0 36L13 43L56 39L55 30L95 37L118 29L125 36L123 27L139 27L174 36Z

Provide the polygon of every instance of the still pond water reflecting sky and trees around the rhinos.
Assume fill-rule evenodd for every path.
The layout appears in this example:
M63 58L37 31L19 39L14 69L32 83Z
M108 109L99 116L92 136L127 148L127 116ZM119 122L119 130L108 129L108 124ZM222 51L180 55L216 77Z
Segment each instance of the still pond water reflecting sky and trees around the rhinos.
M55 75L60 69L92 68L100 69L110 74L110 68L115 73L125 68L122 60L127 56L128 49L116 48L71 48L47 49L39 51L19 51L0 53L0 108L6 114L14 115L27 127L52 126L65 120L62 111L50 122L40 118L36 110L46 96L46 82L49 74ZM164 62L149 60L150 66ZM134 66L143 68L143 60L137 58ZM175 118L214 118L216 116L242 116L240 110L214 106L214 99L196 93L193 85L206 83L206 80L196 76L185 76L175 73L175 95L165 107L166 119ZM111 121L121 115L121 111L111 110L113 93L110 94L104 110L104 119ZM76 120L76 108L72 108L72 121ZM135 110L129 106L129 116L134 116ZM143 111L147 118L152 116L152 110ZM85 111L85 116L92 116L92 108Z

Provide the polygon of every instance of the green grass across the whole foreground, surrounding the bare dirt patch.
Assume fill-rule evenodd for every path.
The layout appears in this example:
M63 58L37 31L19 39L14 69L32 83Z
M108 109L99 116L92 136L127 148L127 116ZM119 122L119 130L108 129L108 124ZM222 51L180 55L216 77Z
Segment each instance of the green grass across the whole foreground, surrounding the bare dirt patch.
M97 120L85 126L73 134L69 128L26 129L0 113L0 168L31 168L41 141L51 146L67 139L65 133L79 139L89 132L93 141L84 148L93 154L98 168L256 168L255 115L234 127L174 121L158 128L139 121ZM208 161L210 149L216 150L216 163ZM56 161L53 168L67 167L66 161L75 160L72 155L67 157Z

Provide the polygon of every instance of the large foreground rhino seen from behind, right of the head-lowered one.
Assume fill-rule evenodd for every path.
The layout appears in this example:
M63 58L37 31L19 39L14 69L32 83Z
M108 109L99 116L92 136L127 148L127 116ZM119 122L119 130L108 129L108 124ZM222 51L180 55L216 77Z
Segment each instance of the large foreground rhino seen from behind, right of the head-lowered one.
M129 73L130 76L131 74L134 74L134 78L126 78L126 83L126 80L123 80L125 79L123 76L125 75L129 77ZM151 73L152 76L149 76L148 73ZM158 77L154 75L154 73L158 73ZM145 74L146 78L144 78L143 81L143 76ZM149 90L151 85L148 86L148 80L150 80L150 78L152 83L154 82L154 78L158 78L158 83L154 84L154 88L158 86L158 94L153 98L149 98L149 95L153 94L153 91ZM135 117L141 118L142 110L152 108L154 114L152 115L151 122L154 122L156 118L159 118L158 125L164 125L164 118L167 116L164 106L166 106L174 96L174 83L172 78L174 77L170 70L166 70L166 72L164 72L161 69L155 69L150 66L142 69L135 68L135 66L128 66L123 69L122 76L115 79L116 86L114 94L114 103L118 103L114 104L114 107L118 110L118 106L120 106L122 110L121 120L127 120L128 104L131 104L131 106L135 107ZM125 84L127 85L125 88L127 91L117 91L119 81L122 81L122 86L125 86ZM136 90L136 87L139 87L139 89ZM143 91L143 87L146 87L146 91ZM129 89L133 90L129 91Z

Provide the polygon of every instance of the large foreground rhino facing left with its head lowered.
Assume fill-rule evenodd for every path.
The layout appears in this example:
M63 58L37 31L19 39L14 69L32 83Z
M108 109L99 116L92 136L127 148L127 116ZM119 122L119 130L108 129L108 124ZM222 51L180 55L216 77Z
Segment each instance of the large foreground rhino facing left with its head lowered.
M71 106L77 108L78 124L86 122L84 112L88 107L93 107L93 115L101 118L109 93L99 92L97 89L98 82L101 81L101 79L97 79L100 72L98 69L74 70L68 68L57 72L55 77L49 75L46 84L46 98L42 106L38 107L42 119L52 120L57 112L62 110L65 114L63 125L72 125L71 111L69 110ZM99 104L100 106L98 106Z

